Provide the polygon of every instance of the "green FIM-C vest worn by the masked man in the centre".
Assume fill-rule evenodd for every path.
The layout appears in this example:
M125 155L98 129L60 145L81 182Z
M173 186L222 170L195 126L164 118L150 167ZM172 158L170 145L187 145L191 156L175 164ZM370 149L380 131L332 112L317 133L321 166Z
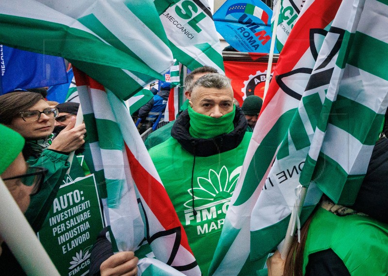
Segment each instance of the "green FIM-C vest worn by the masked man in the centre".
M193 214L191 189L194 156L174 138L149 151L203 275L208 275L251 137L252 133L245 133L240 145L233 150L195 157L193 187L196 216Z

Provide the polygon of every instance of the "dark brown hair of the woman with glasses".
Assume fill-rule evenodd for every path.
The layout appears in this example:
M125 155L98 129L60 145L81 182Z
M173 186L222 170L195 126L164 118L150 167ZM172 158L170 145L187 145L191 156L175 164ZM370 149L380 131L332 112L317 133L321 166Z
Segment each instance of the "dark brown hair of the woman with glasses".
M28 110L43 96L35 92L10 92L0 96L0 123L9 125L20 112Z

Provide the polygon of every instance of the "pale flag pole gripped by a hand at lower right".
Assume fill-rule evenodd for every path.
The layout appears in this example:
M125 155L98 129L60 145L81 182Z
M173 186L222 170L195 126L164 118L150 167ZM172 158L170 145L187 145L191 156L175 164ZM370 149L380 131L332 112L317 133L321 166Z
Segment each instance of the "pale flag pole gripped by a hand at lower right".
M286 232L286 237L284 239L284 243L281 247L280 254L281 258L283 260L286 260L288 253L290 252L291 244L294 239L294 234L295 230L298 228L298 235L300 231L300 222L299 222L299 217L300 214L302 213L302 207L303 204L305 203L305 198L307 194L307 189L308 187L301 187L299 194L296 197L294 207L292 209L291 217L290 217L290 222L288 224L287 232Z

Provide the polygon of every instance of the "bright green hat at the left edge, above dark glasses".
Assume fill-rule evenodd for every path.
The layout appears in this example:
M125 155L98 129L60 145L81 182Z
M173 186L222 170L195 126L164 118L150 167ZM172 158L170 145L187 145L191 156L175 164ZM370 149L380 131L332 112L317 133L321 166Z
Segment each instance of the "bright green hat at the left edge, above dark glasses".
M16 131L0 124L0 174L14 162L24 147L24 138Z

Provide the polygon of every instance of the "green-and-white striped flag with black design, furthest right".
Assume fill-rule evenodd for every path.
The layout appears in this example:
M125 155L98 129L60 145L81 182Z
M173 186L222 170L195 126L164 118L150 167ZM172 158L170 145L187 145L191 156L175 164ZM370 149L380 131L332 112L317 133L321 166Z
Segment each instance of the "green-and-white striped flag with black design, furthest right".
M376 25L371 25L377 11ZM387 74L370 63L388 62L380 55L387 40L375 27L386 24L387 12L387 5L374 0L341 3L268 175L271 182L252 212L252 258L271 249L264 237L284 238L300 184L308 187L302 222L322 192L336 203L354 203L387 109ZM303 163L302 172L294 169L298 163ZM269 210L278 215L270 217Z

